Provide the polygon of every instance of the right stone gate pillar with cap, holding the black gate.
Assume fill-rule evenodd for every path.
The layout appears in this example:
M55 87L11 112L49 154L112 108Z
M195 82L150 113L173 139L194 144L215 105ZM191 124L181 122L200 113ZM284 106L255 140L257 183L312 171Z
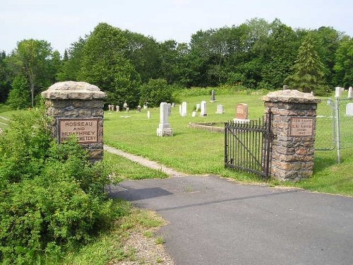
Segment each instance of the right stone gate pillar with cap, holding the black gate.
M273 112L272 177L298 181L313 174L316 107L321 100L311 93L279 90L263 97L266 112Z

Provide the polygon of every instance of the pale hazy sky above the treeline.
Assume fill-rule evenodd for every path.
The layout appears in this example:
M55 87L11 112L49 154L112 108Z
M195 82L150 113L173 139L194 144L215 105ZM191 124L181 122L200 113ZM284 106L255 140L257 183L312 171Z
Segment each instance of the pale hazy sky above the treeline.
M350 0L0 0L0 51L46 40L63 54L104 22L159 42L189 42L198 30L279 18L292 28L330 26L353 36Z

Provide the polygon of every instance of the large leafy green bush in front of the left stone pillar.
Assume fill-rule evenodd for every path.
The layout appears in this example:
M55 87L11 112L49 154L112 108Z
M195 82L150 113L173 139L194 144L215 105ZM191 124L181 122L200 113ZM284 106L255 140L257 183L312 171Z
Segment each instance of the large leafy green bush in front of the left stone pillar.
M40 110L14 117L0 137L0 261L32 264L90 242L124 213L102 192L102 164L91 165L73 137L58 145Z

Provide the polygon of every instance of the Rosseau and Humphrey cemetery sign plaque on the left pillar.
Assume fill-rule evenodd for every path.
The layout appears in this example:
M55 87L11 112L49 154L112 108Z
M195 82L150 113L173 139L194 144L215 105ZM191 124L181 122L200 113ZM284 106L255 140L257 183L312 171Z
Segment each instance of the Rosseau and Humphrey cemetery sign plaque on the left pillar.
M59 119L59 143L75 134L78 143L98 143L98 119Z

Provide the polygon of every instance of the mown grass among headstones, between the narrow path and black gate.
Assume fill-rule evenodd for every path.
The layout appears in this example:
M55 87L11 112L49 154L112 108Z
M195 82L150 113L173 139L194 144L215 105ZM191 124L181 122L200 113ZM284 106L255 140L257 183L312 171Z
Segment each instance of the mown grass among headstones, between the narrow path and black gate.
M208 117L192 118L191 111L196 107L196 103L208 98L210 97L186 98L188 117L179 116L179 107L172 109L169 123L174 136L169 138L156 136L156 129L160 122L158 108L150 110L151 119L147 119L146 112L105 112L104 141L110 146L142 155L189 174L223 172L223 134L189 129L189 122L226 122L234 118L234 107L240 102L246 102L249 105L250 118L257 119L264 114L264 108L260 109L256 106L263 103L261 95L251 98L244 94L219 95L217 102L208 102ZM226 114L215 114L217 104L225 105ZM125 115L130 117L121 117Z

